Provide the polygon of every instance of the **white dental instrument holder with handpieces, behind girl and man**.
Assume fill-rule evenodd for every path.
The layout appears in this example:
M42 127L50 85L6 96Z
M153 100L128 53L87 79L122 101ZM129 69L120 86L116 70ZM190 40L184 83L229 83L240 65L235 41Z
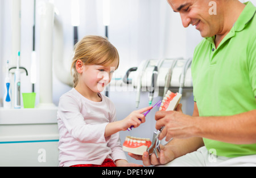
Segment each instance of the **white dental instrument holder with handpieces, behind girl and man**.
M152 61L152 62L151 62ZM152 71L156 66L157 60L150 60L150 65L147 64L147 60L144 60L138 66L138 69L134 71L134 74L129 75L129 83L134 88L137 88L137 104L139 103L139 92L147 91L148 93L151 88L152 82ZM159 96L164 96L168 88L172 88L172 90L179 90L181 86L181 75L184 77L183 89L192 90L192 76L191 76L191 66L187 66L187 72L184 74L184 65L187 62L184 58L166 58L163 60L162 65L158 65L158 79L157 79L157 88L155 86L155 94L156 89L158 90ZM146 69L144 69L146 68ZM128 79L127 79L128 80ZM140 90L138 90L140 88ZM164 92L165 91L165 92Z

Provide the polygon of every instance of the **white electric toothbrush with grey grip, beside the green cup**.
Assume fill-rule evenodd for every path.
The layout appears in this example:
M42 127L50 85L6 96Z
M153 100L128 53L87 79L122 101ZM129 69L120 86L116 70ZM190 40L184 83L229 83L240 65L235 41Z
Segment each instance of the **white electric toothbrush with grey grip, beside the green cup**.
M14 77L14 108L20 109L20 70L19 70L20 52L18 52L17 67Z

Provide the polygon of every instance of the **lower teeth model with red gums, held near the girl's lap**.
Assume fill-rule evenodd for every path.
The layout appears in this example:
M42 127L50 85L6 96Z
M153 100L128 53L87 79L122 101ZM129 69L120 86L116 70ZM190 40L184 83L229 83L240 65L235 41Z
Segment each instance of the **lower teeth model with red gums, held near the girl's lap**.
M123 151L131 152L136 155L143 155L150 147L151 141L149 138L135 138L127 136L123 143Z

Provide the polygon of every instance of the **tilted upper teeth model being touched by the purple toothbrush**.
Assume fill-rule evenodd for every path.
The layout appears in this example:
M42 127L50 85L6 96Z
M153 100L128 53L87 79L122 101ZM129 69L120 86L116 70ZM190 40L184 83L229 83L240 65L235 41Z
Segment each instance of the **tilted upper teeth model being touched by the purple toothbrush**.
M163 98L159 111L174 111L180 103L181 94L174 94L170 90L167 91L166 96Z

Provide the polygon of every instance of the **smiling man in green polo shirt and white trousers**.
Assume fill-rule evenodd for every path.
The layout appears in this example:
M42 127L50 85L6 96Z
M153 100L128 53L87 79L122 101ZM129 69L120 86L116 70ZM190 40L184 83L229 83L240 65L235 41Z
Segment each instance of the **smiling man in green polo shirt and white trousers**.
M205 39L192 62L193 116L157 112L160 158L130 154L145 166L256 166L256 8L238 0L168 0L184 27ZM215 8L215 9L214 9Z

